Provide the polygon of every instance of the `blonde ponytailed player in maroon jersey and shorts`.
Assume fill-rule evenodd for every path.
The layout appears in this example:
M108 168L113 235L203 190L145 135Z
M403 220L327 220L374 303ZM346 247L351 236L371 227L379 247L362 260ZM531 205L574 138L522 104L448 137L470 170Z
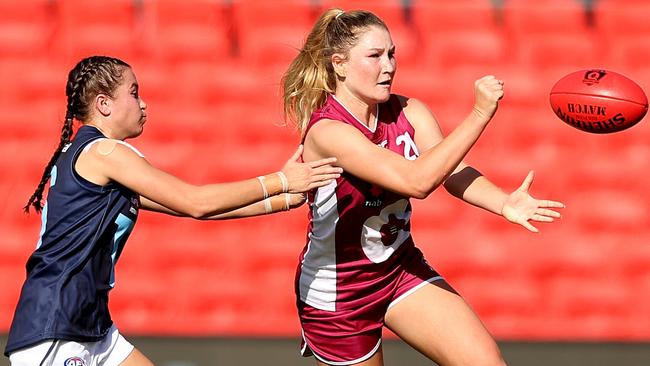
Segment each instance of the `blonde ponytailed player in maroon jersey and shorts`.
M285 113L302 131L305 161L334 156L344 170L308 194L296 275L302 353L319 365L383 365L385 325L439 365L503 365L481 321L415 247L409 199L444 184L533 232L531 221L551 222L563 205L528 194L532 172L507 194L463 163L497 110L502 81L477 80L474 108L443 137L421 102L391 94L395 73L384 22L332 9L284 76Z

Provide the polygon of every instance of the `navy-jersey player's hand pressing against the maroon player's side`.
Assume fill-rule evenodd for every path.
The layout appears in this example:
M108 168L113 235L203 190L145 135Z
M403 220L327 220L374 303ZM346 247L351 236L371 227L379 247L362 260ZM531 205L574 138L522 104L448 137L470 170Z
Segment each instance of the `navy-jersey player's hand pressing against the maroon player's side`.
M309 163L303 163L300 155L303 146L298 146L296 152L282 167L287 177L289 193L302 193L314 188L326 186L341 176L343 169L335 167L336 158L327 158Z

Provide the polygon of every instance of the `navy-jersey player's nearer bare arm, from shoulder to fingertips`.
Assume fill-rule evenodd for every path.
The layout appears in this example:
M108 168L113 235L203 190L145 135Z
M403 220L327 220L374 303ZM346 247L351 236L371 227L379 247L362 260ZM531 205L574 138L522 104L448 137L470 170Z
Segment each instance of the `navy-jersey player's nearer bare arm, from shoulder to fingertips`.
M155 168L129 147L116 144L115 140L93 145L79 156L75 169L93 183L105 185L114 181L129 188L147 199L147 209L207 218L262 201L265 194L273 196L285 190L305 192L326 185L340 175L341 169L330 165L335 159L300 163L301 152L299 148L281 170L286 184L282 183L280 175L267 176L275 180L269 178L264 185L256 178L201 186L189 184Z

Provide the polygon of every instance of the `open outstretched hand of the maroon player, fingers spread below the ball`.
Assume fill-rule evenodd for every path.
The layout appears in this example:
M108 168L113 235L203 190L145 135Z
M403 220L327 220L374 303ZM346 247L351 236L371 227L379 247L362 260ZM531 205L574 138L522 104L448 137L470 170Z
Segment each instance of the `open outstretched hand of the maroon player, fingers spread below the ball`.
M530 171L521 186L508 196L501 209L501 214L508 221L537 233L539 230L530 221L553 222L555 218L560 217L560 213L553 210L553 208L564 208L564 204L533 198L528 193L528 189L533 183L534 177L535 173Z

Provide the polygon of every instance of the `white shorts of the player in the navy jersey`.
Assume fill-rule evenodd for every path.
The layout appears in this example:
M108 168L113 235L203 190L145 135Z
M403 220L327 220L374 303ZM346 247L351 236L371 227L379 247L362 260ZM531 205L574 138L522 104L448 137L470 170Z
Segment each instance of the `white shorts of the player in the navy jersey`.
M11 366L118 366L133 351L113 325L102 340L72 342L48 340L9 355Z

